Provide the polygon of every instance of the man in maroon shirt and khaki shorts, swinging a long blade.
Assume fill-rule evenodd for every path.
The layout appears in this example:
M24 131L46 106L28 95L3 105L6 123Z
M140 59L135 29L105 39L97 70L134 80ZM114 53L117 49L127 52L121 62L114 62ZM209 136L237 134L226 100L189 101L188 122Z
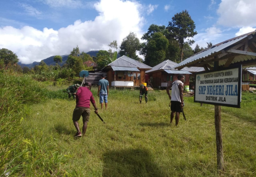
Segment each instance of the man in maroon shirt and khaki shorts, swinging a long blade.
M73 123L77 129L77 133L74 137L81 137L82 134L79 130L79 123L78 120L80 119L81 115L83 118L83 135L85 135L87 129L87 122L89 122L90 118L90 102L93 104L95 109L95 114L98 114L98 108L95 104L93 93L90 91L92 84L90 82L85 82L84 87L79 87L76 93L76 107L73 111Z

